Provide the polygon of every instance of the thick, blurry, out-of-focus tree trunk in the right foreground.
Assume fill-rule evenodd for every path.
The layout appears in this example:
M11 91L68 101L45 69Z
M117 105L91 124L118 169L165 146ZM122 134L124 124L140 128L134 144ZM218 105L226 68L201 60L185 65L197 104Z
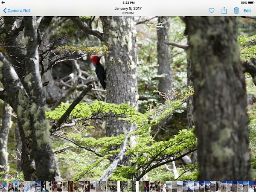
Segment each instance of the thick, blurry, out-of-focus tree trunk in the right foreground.
M236 17L186 17L195 87L199 180L251 180Z

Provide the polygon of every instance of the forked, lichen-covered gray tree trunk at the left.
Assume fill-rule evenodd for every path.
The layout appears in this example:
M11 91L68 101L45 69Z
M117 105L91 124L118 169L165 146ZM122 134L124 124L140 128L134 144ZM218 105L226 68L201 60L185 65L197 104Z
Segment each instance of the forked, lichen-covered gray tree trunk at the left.
M15 46L18 33L11 31L14 17L5 17L5 23L4 31L8 31L10 37L8 43ZM49 140L49 122L45 118L46 102L39 73L35 17L23 17L23 28L27 39L26 56L18 47L7 49L8 53L16 56L13 57L15 59L7 60L0 53L0 80L7 94L1 99L6 100L17 113L25 179L60 180Z

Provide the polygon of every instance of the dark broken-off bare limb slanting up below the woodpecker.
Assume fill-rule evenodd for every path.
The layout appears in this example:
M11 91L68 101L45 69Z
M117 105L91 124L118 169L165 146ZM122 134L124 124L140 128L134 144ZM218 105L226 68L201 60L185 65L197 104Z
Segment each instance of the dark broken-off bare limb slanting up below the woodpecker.
M67 119L67 117L70 115L72 110L76 107L77 104L84 98L84 96L93 88L92 84L89 84L87 87L84 88L82 93L71 103L67 111L61 116L58 121L52 125L52 128L50 130L51 133L57 130L57 128Z

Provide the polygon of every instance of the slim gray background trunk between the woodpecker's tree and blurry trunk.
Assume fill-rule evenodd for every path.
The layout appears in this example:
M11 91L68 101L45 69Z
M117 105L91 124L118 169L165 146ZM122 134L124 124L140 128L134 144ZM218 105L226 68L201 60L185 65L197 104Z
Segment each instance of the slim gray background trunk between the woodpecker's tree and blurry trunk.
M158 60L158 75L164 75L159 78L158 90L163 93L168 93L172 90L172 71L171 51L170 46L164 44L169 41L169 17L158 17L159 29L157 30L157 60Z

